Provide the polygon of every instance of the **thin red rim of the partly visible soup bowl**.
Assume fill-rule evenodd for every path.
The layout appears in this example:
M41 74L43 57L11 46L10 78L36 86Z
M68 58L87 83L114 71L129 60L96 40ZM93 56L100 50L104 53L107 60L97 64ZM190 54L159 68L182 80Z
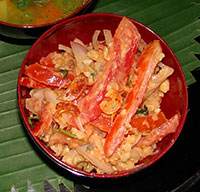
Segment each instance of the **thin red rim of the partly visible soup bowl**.
M7 27L13 27L13 28L19 28L19 29L36 29L36 28L43 28L43 27L49 27L49 26L53 26L56 25L60 22L63 22L69 18L72 18L73 16L75 16L76 14L78 14L80 11L82 11L84 8L86 8L92 1L95 0L87 0L79 9L77 9L75 12L73 12L72 14L61 18L59 20L56 20L54 22L51 23L47 23L47 24L40 24L40 25L18 25L18 24L13 24L13 23L7 23L5 21L1 21L0 20L0 25L5 25Z

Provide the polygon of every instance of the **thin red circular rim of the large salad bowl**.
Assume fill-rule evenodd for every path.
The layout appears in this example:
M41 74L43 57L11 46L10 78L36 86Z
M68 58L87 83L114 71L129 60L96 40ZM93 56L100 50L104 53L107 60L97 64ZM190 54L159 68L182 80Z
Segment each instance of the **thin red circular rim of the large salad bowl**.
M170 55L173 57L175 63L177 64L177 71L180 72L180 76L181 79L183 81L183 92L185 95L185 101L184 101L184 109L183 109L183 114L181 115L181 121L179 122L179 126L177 131L173 134L172 139L170 140L170 142L168 143L168 145L165 147L165 150L162 150L153 160L151 160L149 163L139 166L138 168L135 168L134 170L127 170L127 171L122 171L116 174L96 174L96 173L89 173L89 172L85 172L82 170L79 170L75 167L72 167L68 164L65 164L64 162L60 161L58 158L56 158L52 153L50 153L46 147L44 147L43 145L40 144L39 139L33 135L33 133L31 132L31 128L28 124L28 120L25 116L23 107L22 107L22 102L21 102L21 86L20 86L20 78L22 76L22 71L23 68L26 65L26 60L29 57L30 52L32 51L32 49L45 37L48 36L48 34L51 34L53 31L56 31L57 29L59 29L59 27L65 25L66 23L70 23L73 22L75 20L79 20L79 19L86 19L88 17L101 17L101 16L108 16L108 17L115 17L115 18L119 18L122 19L124 16L123 15L119 15L119 14L113 14L113 13L88 13L88 14L84 14L84 15L80 15L80 16L76 16L76 17L72 17L68 20L65 20L61 23L58 23L56 25L54 25L53 27L51 27L50 29L48 29L47 31L45 31L36 41L35 43L32 45L32 47L29 49L29 51L27 52L24 61L22 63L22 66L20 68L19 71L19 76L18 76L18 84L17 84L17 95L18 95L18 106L20 109L20 113L21 113L21 117L23 119L23 123L25 125L26 130L28 131L29 135L31 136L32 140L34 141L34 143L36 143L36 145L40 148L40 150L42 150L42 152L49 157L51 160L53 160L57 165L59 165L60 167L64 168L65 170L69 171L70 173L72 173L73 175L76 176L82 176L82 177L87 177L87 178L101 178L101 179L109 179L109 178L121 178L121 177L125 177L125 176L129 176L132 175L134 173L139 172L140 170L149 167L150 165L154 164L157 160L159 160L171 147L172 145L175 143L175 141L177 140L178 136L180 135L185 120L186 120L186 116L187 116L187 110L188 110L188 90L187 90L187 84L186 84L186 80L185 80L185 76L184 73L182 71L181 65L176 57L176 55L173 53L173 51L171 50L171 48L169 47L169 45L157 34L155 33L151 28L147 27L146 25L142 24L139 21L136 21L135 19L132 19L130 17L127 17L128 19L130 19L134 24L140 25L142 28L145 28L145 30L150 31L151 33L153 33L153 35L159 39L162 44L166 47L166 49L169 51Z

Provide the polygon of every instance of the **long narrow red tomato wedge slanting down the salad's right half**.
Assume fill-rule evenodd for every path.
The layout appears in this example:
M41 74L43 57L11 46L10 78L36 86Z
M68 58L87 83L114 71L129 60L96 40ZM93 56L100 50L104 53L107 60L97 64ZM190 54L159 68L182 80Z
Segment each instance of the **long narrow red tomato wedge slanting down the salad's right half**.
M159 40L149 43L142 52L136 69L136 82L127 96L124 108L115 119L115 122L106 137L104 153L111 156L118 148L124 138L125 126L131 121L138 107L142 103L148 82L159 61L163 58L162 48Z

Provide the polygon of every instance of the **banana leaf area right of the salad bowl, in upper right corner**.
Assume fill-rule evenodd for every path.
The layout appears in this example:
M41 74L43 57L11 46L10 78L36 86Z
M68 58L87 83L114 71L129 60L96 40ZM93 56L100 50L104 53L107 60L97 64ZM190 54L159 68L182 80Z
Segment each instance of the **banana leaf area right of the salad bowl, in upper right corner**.
M188 85L195 82L191 71L200 67L195 38L200 35L200 0L108 0L97 2L94 12L125 15L153 29L177 56Z

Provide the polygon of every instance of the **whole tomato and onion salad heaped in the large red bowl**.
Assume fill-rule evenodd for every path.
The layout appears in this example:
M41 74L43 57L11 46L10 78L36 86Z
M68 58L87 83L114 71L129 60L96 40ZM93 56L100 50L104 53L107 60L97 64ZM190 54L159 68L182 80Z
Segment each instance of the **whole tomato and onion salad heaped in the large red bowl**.
M104 38L100 40L99 36ZM156 153L180 119L161 110L174 69L162 62L159 40L146 43L126 17L114 35L94 31L26 66L20 84L35 136L64 163L115 174Z

